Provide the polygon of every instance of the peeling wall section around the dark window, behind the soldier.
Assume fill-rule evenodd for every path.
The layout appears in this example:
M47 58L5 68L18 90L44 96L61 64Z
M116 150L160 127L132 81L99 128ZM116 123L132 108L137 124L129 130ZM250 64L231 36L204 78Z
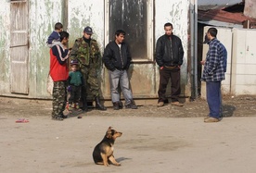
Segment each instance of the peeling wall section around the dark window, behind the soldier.
M108 3L107 1L105 3ZM100 44L102 53L105 46L104 33L104 21L106 17L106 7L103 1L86 1L76 2L69 1L69 31L71 34L70 46L74 43L74 40L82 36L83 28L87 25L91 26L94 30L93 37ZM163 4L168 6L162 6ZM179 36L184 45L185 53L187 52L187 27L188 27L188 1L180 0L164 0L155 1L155 22L154 22L154 41L155 45L157 39L164 34L163 25L166 22L172 22L174 27L174 34ZM108 6L107 6L108 7ZM87 11L87 13L84 13ZM153 11L152 11L153 12ZM145 29L147 30L147 29ZM107 31L108 32L108 31ZM107 34L108 35L108 34ZM152 55L153 56L153 55ZM184 65L182 66L182 88L183 95L186 95L187 84L187 55L184 57ZM101 71L103 77L102 81L102 93L105 98L110 98L109 93L109 76L107 69L103 66ZM129 70L129 76L131 80L131 88L135 98L153 98L157 97L158 85L159 85L159 67L155 64L148 63L135 63ZM139 83L138 83L139 82Z

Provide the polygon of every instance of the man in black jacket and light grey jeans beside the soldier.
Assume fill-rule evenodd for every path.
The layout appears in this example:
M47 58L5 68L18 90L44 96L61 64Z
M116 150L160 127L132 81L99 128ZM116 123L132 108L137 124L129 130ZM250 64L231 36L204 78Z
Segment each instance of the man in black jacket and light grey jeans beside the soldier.
M119 83L121 84L126 108L137 108L134 104L127 75L127 70L131 64L131 54L128 45L123 42L124 36L125 31L116 31L115 41L110 42L106 46L103 55L105 67L109 69L110 92L114 110L122 108L120 93L118 91Z

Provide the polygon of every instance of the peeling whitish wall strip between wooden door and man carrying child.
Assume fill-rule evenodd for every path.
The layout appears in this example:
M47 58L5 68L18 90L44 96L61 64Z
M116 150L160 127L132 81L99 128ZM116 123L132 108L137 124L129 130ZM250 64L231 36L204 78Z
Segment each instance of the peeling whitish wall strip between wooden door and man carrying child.
M63 0L30 0L30 94L33 98L51 98L46 92L46 80L49 73L49 48L46 41L54 31L54 25L63 23Z

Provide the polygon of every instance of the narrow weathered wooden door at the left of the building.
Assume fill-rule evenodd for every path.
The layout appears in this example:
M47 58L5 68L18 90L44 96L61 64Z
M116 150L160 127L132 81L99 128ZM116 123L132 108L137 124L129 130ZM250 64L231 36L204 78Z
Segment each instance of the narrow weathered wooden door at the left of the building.
M10 88L11 93L29 93L28 82L28 3L10 3Z

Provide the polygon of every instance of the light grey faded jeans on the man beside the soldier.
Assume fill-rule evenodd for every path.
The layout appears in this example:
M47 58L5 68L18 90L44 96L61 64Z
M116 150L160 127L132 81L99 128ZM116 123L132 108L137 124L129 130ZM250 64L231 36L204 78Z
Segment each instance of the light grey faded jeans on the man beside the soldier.
M115 69L114 71L109 70L109 81L110 81L110 92L112 103L120 101L120 93L118 86L120 83L123 97L125 99L125 105L128 105L133 100L133 94L130 89L130 83L126 70Z

